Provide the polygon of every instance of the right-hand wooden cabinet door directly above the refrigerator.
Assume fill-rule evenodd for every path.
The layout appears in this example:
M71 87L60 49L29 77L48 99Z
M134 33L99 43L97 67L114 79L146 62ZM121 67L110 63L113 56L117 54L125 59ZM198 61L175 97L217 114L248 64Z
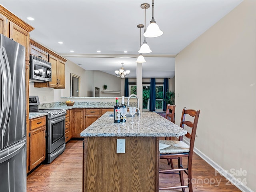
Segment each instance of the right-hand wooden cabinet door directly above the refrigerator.
M10 38L26 48L26 60L29 61L29 32L10 22Z

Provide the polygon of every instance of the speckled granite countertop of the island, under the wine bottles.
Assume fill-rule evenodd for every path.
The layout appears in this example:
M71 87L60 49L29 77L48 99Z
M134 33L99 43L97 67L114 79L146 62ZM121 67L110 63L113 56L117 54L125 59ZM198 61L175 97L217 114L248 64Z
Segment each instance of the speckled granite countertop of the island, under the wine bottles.
M114 123L113 112L106 112L80 133L82 137L174 137L187 131L155 112L141 112L141 117L126 117L125 123Z

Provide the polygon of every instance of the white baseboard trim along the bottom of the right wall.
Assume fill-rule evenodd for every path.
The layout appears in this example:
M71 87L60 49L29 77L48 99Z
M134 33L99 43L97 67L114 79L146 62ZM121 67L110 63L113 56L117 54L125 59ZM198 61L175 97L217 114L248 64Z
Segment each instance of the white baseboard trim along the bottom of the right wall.
M190 144L187 140L183 139L183 141L186 144ZM238 180L237 178L235 178L232 174L230 174L229 172L226 172L226 170L224 168L222 168L221 166L219 166L216 162L214 162L211 158L209 158L208 156L206 156L206 154L204 154L202 151L200 151L198 148L194 147L194 152L196 154L198 154L198 156L200 156L204 161L206 161L210 166L212 166L216 171L220 170L220 174L222 176L224 176L228 181L230 181L230 183L232 183L234 186L236 186L238 189L240 189L242 192L254 192L253 190L251 190L250 188L248 188L248 186L246 186L245 184L243 184L240 180ZM225 173L225 174L222 174Z

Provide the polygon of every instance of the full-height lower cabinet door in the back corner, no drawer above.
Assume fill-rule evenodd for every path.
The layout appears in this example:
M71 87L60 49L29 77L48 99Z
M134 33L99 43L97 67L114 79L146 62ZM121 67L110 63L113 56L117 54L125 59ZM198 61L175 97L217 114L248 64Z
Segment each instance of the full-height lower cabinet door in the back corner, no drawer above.
M84 127L84 109L73 109L72 110L72 136L80 137L80 132L82 132Z

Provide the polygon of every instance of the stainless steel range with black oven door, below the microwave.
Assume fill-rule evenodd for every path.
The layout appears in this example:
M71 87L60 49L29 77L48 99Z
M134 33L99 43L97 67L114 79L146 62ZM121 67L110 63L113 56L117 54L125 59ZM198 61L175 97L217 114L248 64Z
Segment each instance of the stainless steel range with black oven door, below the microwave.
M52 162L62 152L65 144L65 109L38 109L38 96L29 96L29 112L47 113L46 161Z

